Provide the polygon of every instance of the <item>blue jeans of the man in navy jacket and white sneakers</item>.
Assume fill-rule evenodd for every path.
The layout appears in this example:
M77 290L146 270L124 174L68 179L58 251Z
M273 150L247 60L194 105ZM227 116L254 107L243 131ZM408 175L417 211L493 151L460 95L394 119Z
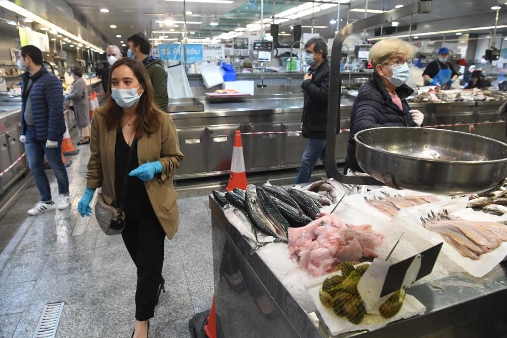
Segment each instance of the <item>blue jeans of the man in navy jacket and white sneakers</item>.
M41 193L41 201L51 201L51 188L49 187L48 176L44 172L44 155L46 155L49 165L55 173L59 194L68 195L67 170L62 162L62 140L58 140L56 148L46 148L46 141L37 139L35 129L26 128L25 150L28 166Z

